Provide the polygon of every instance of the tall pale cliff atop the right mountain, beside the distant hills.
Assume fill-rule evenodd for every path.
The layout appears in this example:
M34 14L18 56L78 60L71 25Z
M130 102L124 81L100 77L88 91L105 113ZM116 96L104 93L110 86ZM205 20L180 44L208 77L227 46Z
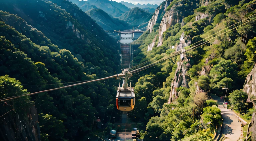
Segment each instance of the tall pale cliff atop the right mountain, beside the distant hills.
M152 32L152 29L154 27L154 25L157 23L157 21L161 22L161 16L165 14L165 10L166 8L170 5L170 3L172 2L172 0L167 0L164 1L163 3L161 3L160 6L158 6L158 8L155 10L152 18L150 19L149 23L148 23L148 27L147 30L150 31L150 33Z

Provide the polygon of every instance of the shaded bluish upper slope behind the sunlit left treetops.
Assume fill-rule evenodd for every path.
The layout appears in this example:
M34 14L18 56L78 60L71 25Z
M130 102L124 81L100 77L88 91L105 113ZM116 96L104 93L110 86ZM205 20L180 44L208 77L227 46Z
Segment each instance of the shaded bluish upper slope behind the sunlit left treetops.
M93 65L112 73L112 69L103 66L112 63L110 67L118 65L116 42L77 6L66 0L52 1L66 10L50 1L33 0L25 0L24 3L28 3L26 5L18 4L18 0L10 0L0 9L25 19L60 49L70 50L79 61L92 62Z

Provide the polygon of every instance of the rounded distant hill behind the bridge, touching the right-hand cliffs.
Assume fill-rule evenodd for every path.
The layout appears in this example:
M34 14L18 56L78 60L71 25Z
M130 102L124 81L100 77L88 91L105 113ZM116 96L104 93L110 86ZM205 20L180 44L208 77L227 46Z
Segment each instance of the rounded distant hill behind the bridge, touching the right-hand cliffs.
M144 28L149 19L152 17L152 14L140 9L138 7L132 8L131 10L125 12L122 16L119 17L120 20L127 22L130 26Z

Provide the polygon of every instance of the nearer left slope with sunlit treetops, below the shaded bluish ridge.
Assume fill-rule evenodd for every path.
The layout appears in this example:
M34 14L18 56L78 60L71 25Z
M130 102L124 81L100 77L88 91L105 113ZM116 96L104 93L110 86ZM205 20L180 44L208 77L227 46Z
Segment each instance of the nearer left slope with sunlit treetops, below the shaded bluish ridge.
M37 2L39 5L47 5L45 1ZM0 83L1 91L6 93L1 94L0 98L52 89L66 85L63 84L65 82L109 76L110 74L101 68L114 69L111 68L114 63L104 56L101 61L108 62L100 66L101 68L94 66L96 58L94 62L79 62L70 51L60 50L44 33L16 15L1 11L0 20ZM73 32L71 33L69 36L72 37ZM79 40L76 35L74 39ZM66 43L66 46L69 45ZM89 46L83 50L93 53ZM86 53L83 50L80 50L80 53ZM99 48L94 50L96 54L101 54ZM91 58L88 54L85 56ZM110 99L114 98L112 94L115 93L114 88L108 84L117 85L111 83L97 82L45 92L32 96L34 102L29 101L29 97L2 102L0 113L3 116L0 118L4 122L0 127L0 140L87 139L91 136L91 130L97 128L93 124L96 117L103 119L104 113L110 116L109 110L110 114L115 113L113 108L108 107L114 104Z

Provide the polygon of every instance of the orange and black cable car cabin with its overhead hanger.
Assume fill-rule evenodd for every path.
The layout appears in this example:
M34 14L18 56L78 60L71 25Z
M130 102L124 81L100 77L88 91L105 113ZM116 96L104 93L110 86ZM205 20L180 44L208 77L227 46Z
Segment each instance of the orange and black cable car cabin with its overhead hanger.
M135 105L135 94L134 88L131 86L128 87L127 79L128 79L128 70L122 71L122 74L125 74L123 84L121 87L121 83L119 83L119 87L117 89L116 94L116 107L120 111L131 111Z

